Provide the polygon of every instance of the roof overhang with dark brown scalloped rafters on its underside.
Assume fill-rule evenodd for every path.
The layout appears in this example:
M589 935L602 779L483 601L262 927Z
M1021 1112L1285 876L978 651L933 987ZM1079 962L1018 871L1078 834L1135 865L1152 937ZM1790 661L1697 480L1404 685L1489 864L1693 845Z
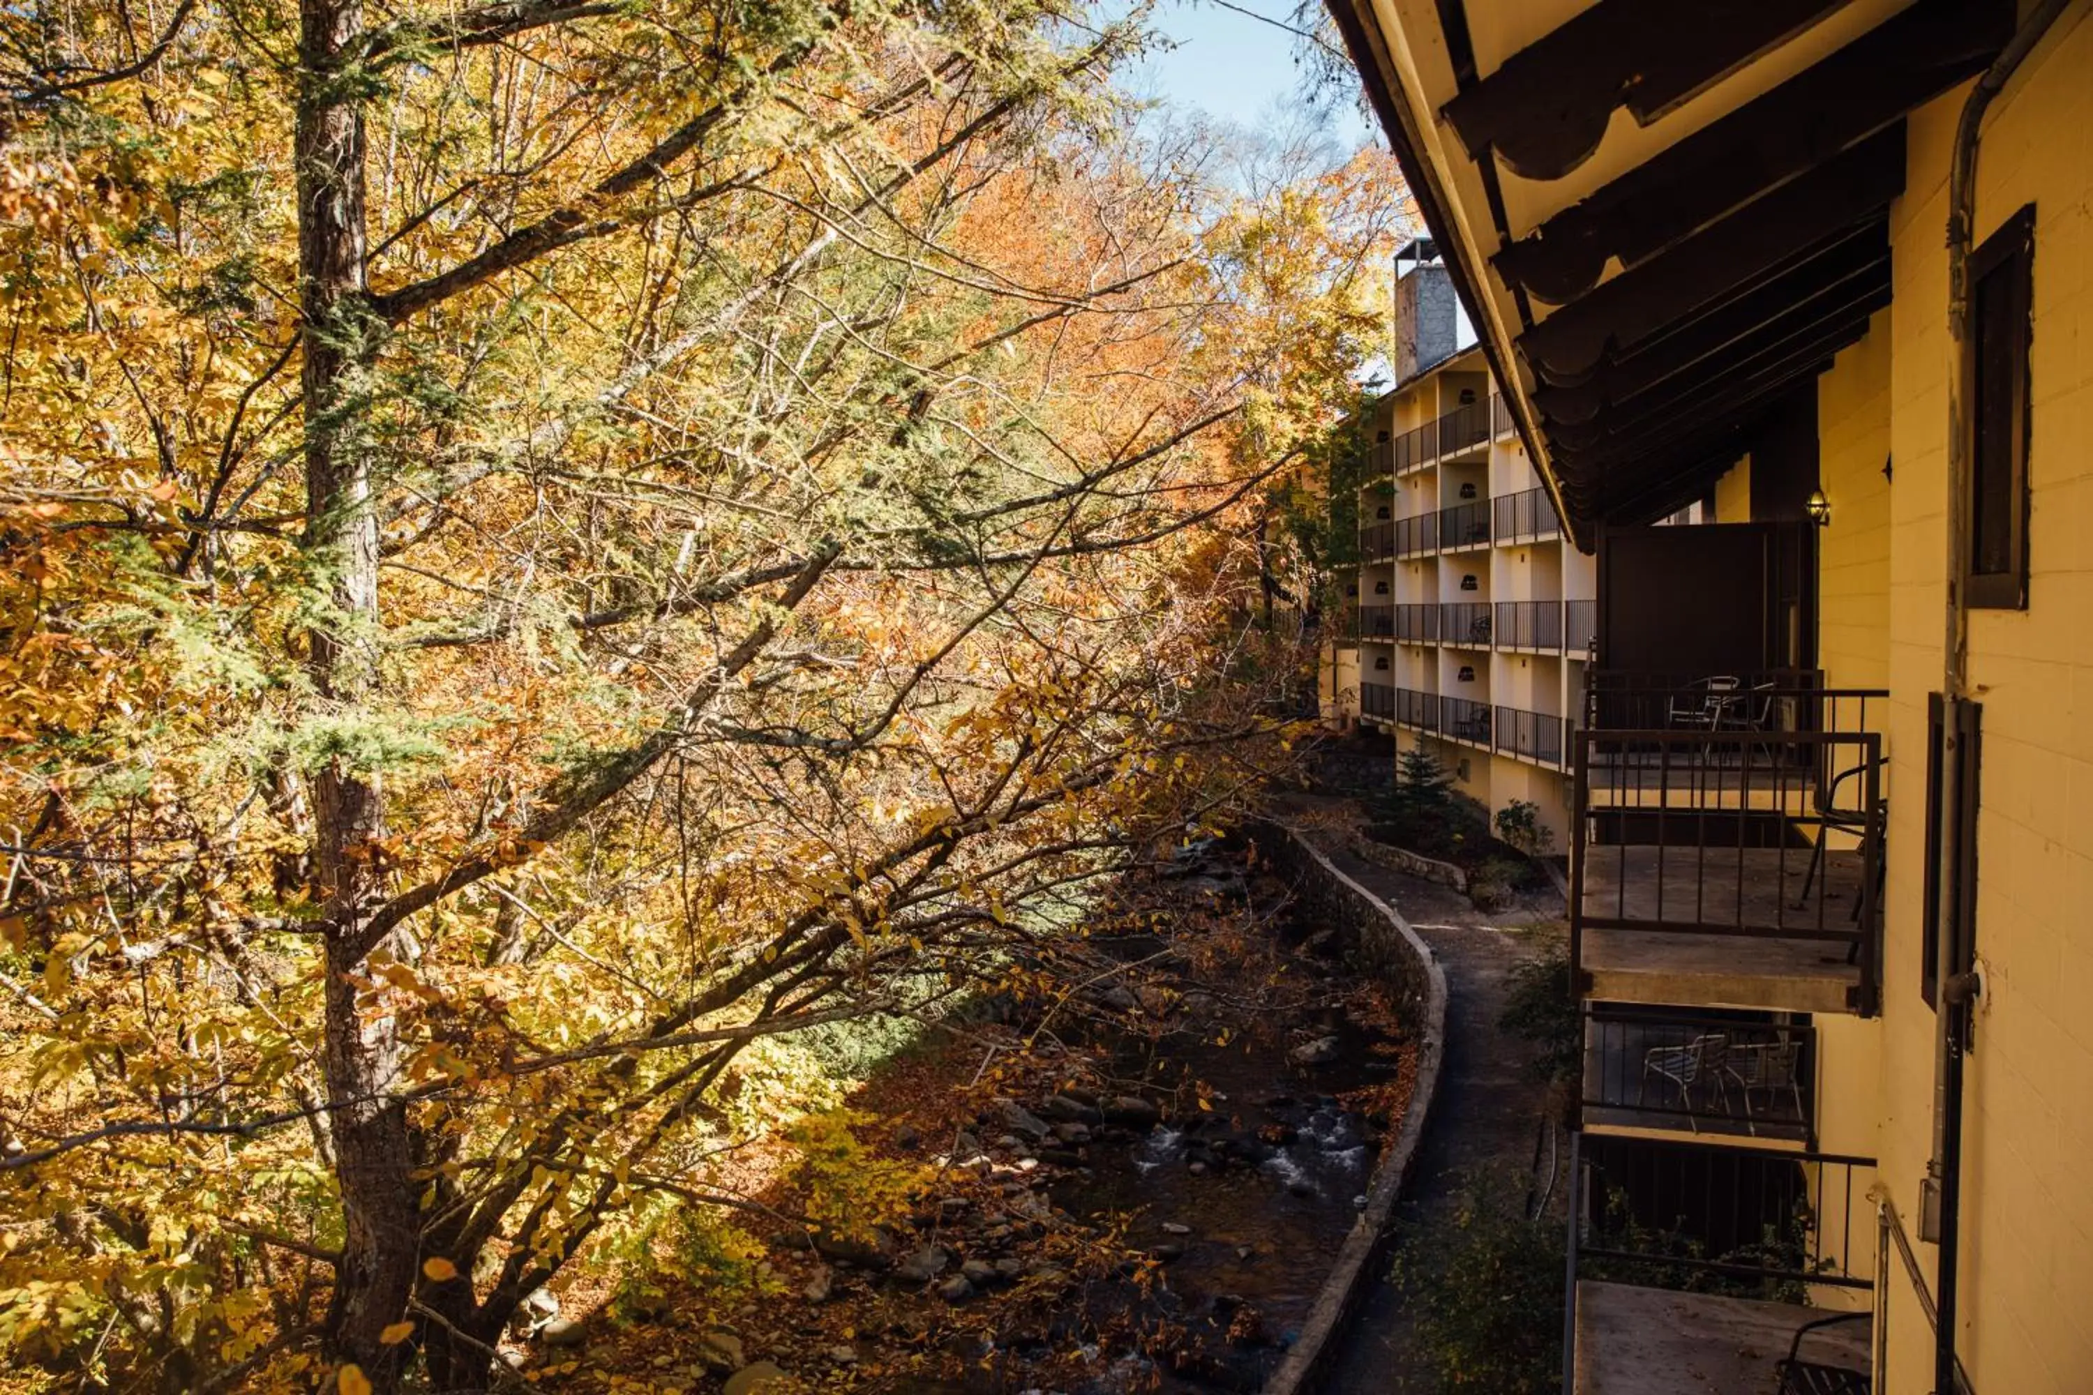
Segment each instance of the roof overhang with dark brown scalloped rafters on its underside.
M1706 491L1867 333L1903 117L2013 25L2011 0L1331 8L1584 548Z

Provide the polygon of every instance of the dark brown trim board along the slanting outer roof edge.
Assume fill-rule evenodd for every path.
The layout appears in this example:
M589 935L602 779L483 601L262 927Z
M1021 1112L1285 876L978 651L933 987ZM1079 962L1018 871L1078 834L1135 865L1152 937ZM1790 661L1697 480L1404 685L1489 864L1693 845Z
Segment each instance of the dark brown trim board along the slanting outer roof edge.
M1520 381L1511 364L1511 356L1503 345L1496 343L1492 326L1494 316L1482 314L1488 301L1482 295L1482 287L1488 284L1480 268L1469 264L1469 249L1463 241L1453 236L1453 220L1446 218L1446 195L1438 186L1432 165L1417 153L1417 130L1413 125L1409 105L1396 92L1394 61L1388 56L1388 48L1381 44L1379 25L1373 23L1371 15L1360 15L1360 6L1371 4L1371 0L1325 0L1331 19L1337 21L1337 33L1344 36L1344 46L1352 54L1352 67L1358 69L1358 79L1367 88L1367 98L1373 102L1373 113L1381 119L1381 130L1388 134L1388 144L1396 153L1396 163L1402 167L1402 178L1411 186L1411 197L1417 199L1417 211L1425 220L1425 228L1438 241L1440 257L1446 264L1446 274L1453 278L1453 289L1461 297L1467 310L1469 322L1476 326L1476 343L1482 356L1490 362L1490 372L1496 374L1496 387L1511 402L1511 422L1520 431L1520 441L1526 445L1526 456L1534 462L1540 473L1540 483L1549 491L1549 502L1555 504L1555 517L1561 519L1563 533L1570 538L1572 546L1580 552L1593 552L1597 548L1597 538L1578 531L1572 521L1570 510L1563 506L1561 481L1555 471L1549 468L1549 456L1540 448L1540 431L1534 422L1534 404L1526 397L1526 385Z

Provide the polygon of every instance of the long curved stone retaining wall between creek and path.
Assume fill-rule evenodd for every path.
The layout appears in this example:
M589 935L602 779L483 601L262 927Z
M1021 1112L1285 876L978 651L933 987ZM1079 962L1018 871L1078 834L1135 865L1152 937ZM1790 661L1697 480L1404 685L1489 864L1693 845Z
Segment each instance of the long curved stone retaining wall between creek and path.
M1344 1328L1365 1295L1371 1270L1386 1263L1390 1221L1417 1161L1446 1056L1446 970L1394 906L1340 872L1306 837L1264 824L1256 830L1256 839L1279 874L1293 883L1306 914L1337 931L1346 958L1394 987L1396 1016L1417 1044L1417 1081L1396 1144L1375 1167L1367 1186L1367 1207L1337 1249L1337 1259L1323 1280L1314 1307L1308 1309L1308 1320L1302 1322L1300 1336L1264 1382L1264 1395L1304 1395L1314 1389L1329 1339Z

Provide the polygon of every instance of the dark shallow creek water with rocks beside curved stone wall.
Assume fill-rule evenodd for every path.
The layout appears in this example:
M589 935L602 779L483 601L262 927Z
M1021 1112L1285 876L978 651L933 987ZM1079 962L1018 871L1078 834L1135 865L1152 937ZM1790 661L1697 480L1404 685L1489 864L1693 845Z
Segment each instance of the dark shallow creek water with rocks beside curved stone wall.
M1145 945L1128 945L1128 958ZM1327 966L1325 966L1327 968ZM1312 970L1266 1012L1218 1008L1162 1039L1095 1039L1120 1085L1170 1102L1151 1127L1103 1127L1049 1186L1086 1224L1122 1224L1162 1259L1162 1284L1093 1284L1053 1330L1011 1334L963 1385L908 1395L1120 1395L1256 1391L1298 1336L1344 1236L1358 1219L1381 1129L1342 1096L1383 1085L1396 1056L1344 1014ZM1243 1021L1247 1019L1247 1021ZM1308 1042L1314 1065L1293 1056ZM1379 1050L1377 1050L1379 1048ZM1210 1108L1199 1108L1206 1098ZM1038 1104L1038 1102L1034 1102ZM1097 1330L1172 1339L1153 1359ZM1080 1349L1086 1376L1028 1372L1030 1357ZM1149 1351L1157 1351L1151 1341Z

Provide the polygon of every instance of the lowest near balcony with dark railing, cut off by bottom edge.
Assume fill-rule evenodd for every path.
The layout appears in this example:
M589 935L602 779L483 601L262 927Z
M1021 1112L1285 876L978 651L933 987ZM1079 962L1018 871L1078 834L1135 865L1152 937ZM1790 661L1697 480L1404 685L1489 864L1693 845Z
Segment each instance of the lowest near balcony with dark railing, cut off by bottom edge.
M1875 1161L1572 1134L1566 1389L1867 1391Z

